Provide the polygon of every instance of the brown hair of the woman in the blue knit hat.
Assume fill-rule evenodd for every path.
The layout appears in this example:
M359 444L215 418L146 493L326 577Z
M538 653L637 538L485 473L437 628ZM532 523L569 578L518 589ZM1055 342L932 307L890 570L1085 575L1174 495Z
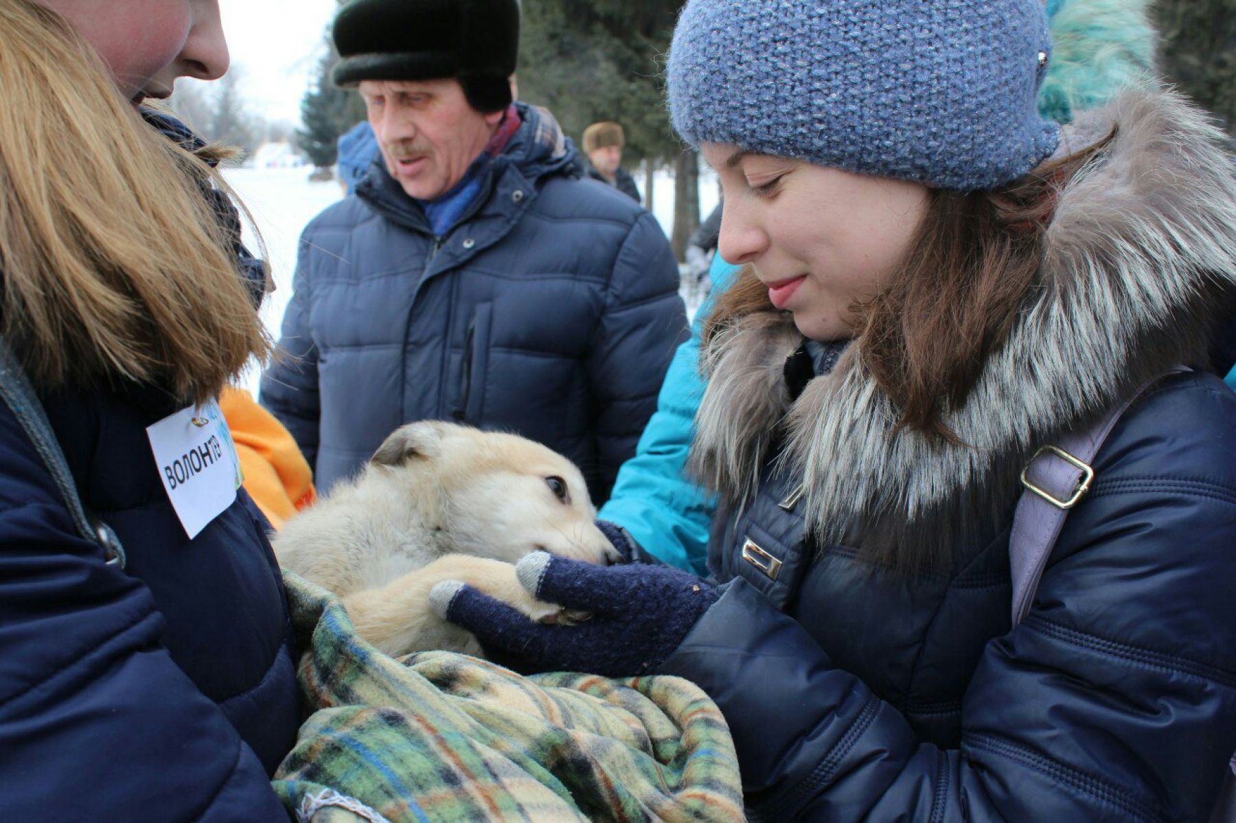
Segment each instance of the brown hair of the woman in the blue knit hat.
M943 413L965 403L1007 339L1038 277L1060 190L1114 136L994 192L929 192L889 287L852 306L863 362L901 409L897 429L957 442ZM740 318L775 310L754 272L743 271L705 323L705 346Z

